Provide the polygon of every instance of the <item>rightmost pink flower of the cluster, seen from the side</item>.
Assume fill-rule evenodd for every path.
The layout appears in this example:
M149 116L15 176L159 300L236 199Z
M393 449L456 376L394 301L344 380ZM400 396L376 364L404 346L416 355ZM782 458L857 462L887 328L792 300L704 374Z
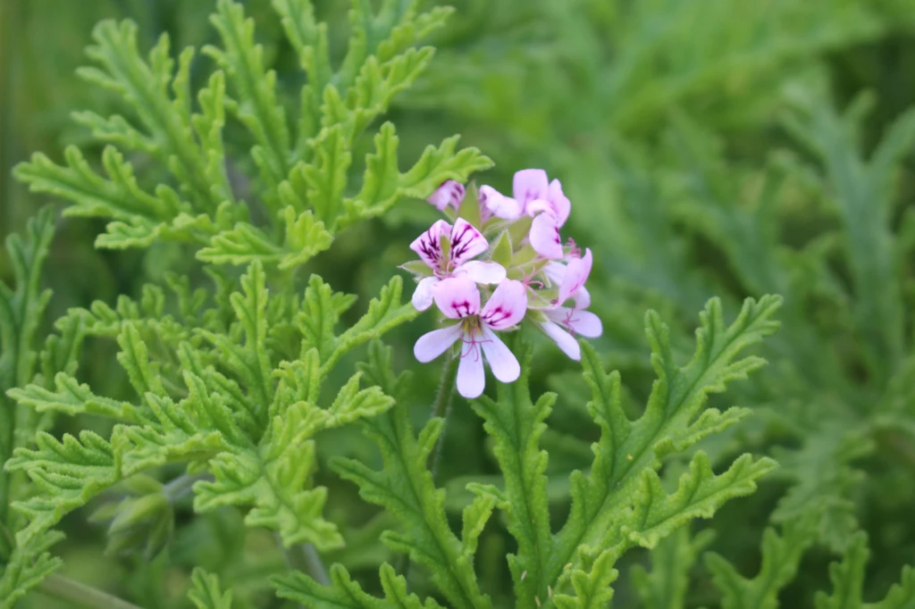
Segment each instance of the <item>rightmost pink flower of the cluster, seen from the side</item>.
M592 263L591 251L586 250L584 258L573 258L565 266L551 262L546 269L550 281L559 285L559 293L553 306L544 309L546 319L539 324L546 336L552 338L565 355L576 360L581 359L581 347L575 335L597 338L603 333L600 318L583 310L591 304L591 295L585 289L585 282L591 273ZM562 306L569 298L575 300L575 305Z

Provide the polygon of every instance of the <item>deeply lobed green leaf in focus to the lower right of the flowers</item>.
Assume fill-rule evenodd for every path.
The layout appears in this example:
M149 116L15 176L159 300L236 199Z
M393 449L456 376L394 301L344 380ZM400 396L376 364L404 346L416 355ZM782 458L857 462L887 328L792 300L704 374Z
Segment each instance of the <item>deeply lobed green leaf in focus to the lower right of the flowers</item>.
M692 477L681 481L681 491L662 504L651 500L658 488L654 472L661 465L659 448L664 452L672 445L686 448L685 440L701 434L684 435L682 430L689 429L690 422L703 411L708 394L725 390L727 382L745 379L750 371L763 364L760 358L737 356L776 330L778 324L771 321L771 316L779 305L780 298L776 296L764 296L759 301L748 299L737 320L728 327L720 303L716 299L709 301L696 331L694 357L684 368L673 361L667 327L658 315L647 315L651 361L659 378L652 387L644 414L634 422L622 409L619 375L606 373L594 349L582 344L585 379L593 393L587 409L600 426L601 434L594 446L595 462L590 474L572 475L572 512L556 536L546 573L548 582L556 582L566 564L576 565L579 546L606 547L600 544L607 541L608 531L619 522L620 510L627 508L631 497L637 497L633 513L633 518L637 517L636 526L626 531L625 536L628 542L651 547L663 535L684 524L685 519L707 518L719 505L719 499L750 492L753 481L770 471L772 463L768 460L752 463L748 457L741 457L726 474L709 477L707 459L696 455ZM674 498L682 497L686 487L702 487L706 478L707 484L712 485L708 487L707 502L691 505ZM662 505L665 507L661 508ZM667 510L671 511L662 517ZM674 518L679 510L684 510L683 518ZM652 518L659 519L649 526Z

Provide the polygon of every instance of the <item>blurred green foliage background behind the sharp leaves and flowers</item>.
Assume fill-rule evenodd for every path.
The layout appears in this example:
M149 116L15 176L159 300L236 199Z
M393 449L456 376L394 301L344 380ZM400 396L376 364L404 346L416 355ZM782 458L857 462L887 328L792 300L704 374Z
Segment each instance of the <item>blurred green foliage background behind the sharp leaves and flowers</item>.
M295 112L304 75L269 2L243 4ZM780 530L815 513L815 539L797 541L809 550L780 593L782 607L813 606L813 593L829 588L828 563L854 530L864 529L872 550L865 598L882 598L901 567L915 563L915 2L442 4L457 12L430 41L438 48L433 66L389 115L401 154L414 159L425 145L461 134L462 144L478 146L496 163L478 183L508 191L511 175L525 167L562 180L573 203L566 232L595 255L589 288L605 325L595 342L608 367L622 372L633 415L653 379L643 333L647 309L671 325L685 361L709 298L720 297L733 317L747 296L782 294L782 330L760 348L770 366L713 400L756 415L702 446L713 463L750 451L771 454L782 467L756 495L695 529L727 531L710 548L749 575L759 569L764 528ZM347 3L315 5L341 54ZM85 145L97 159L101 147L70 112L124 111L74 74L86 62L82 50L94 24L130 18L142 48L163 32L173 50L199 48L216 41L211 8L210 0L0 2L0 233L21 230L49 202L16 184L13 166L34 151L59 160L65 144ZM199 84L212 67L205 57L196 61ZM404 201L385 219L341 236L313 271L367 299L410 258L406 246L433 218L431 206ZM45 278L55 294L48 325L71 306L137 296L166 267L193 264L166 246L96 251L92 241L102 228L101 221L60 220ZM10 281L3 256L0 277ZM416 370L429 396L437 370L408 356L430 325L424 318L392 337L402 365ZM567 510L561 481L587 466L596 430L584 408L580 368L542 345L533 390L560 393L544 440L560 522ZM88 343L84 360L81 376L93 390L129 395L111 344ZM421 420L424 404L415 407ZM473 413L458 408L455 416L442 479L458 517L468 478L497 470L485 452L466 449L483 442ZM58 432L98 425L61 420ZM331 452L373 458L358 434L341 437L345 442L324 443L322 460ZM371 580L377 564L390 560L378 544L390 523L372 519L370 507L353 508L355 489L332 474L319 482L331 487L331 518L364 525L347 550L328 560ZM224 581L242 591L240 606L280 606L268 600L264 574L282 569L282 557L269 536L243 529L231 510L192 518L188 506L179 506L175 544L152 561L141 553L104 557L104 529L85 524L87 516L64 521L69 538L58 548L75 579L143 599L143 606L171 607L178 606L174 594L188 565L203 564L230 570ZM478 565L497 599L509 581L503 556L511 547L503 533L484 535ZM646 553L635 553L620 565L615 606L640 606L628 570L644 561ZM686 606L717 606L701 558L690 577ZM58 605L37 597L25 606Z

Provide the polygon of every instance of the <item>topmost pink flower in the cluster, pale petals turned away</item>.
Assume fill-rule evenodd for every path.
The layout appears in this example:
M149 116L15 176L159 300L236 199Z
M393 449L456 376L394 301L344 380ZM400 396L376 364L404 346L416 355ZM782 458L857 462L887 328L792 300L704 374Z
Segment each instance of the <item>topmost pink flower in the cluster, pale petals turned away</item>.
M528 239L534 251L551 260L562 258L559 229L568 219L572 205L559 180L550 182L543 169L522 169L514 175L511 195L513 198L505 197L493 187L479 188L480 202L493 215L509 220L524 214L533 217Z

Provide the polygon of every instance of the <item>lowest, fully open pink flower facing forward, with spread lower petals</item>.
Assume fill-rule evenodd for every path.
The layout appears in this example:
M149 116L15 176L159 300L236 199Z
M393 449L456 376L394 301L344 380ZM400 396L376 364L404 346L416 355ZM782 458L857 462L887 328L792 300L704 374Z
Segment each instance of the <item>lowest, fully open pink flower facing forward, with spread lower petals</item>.
M420 337L414 355L429 362L461 340L458 364L458 392L465 398L477 398L486 386L483 358L490 362L496 379L511 383L521 374L521 366L495 330L504 330L521 322L527 311L527 289L521 282L504 279L490 300L479 308L479 289L468 277L452 277L438 284L436 305L450 319L460 321Z

